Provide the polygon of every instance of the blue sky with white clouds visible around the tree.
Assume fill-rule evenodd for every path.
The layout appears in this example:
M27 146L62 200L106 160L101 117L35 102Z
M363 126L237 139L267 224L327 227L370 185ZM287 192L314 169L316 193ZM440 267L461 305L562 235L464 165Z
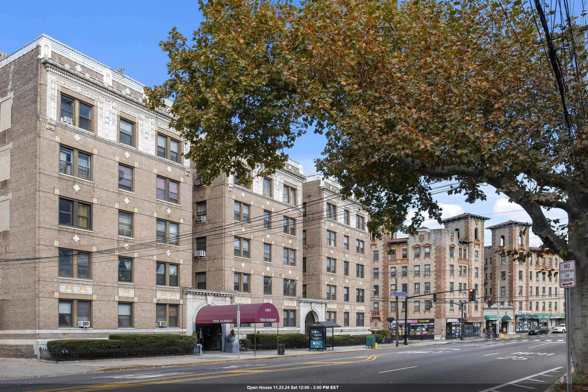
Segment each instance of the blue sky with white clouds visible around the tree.
M196 1L4 1L0 2L0 15L4 15L0 24L1 52L15 52L45 33L111 68L123 65L127 75L148 86L161 83L167 75L167 57L158 42L166 38L173 26L191 36L202 21ZM302 163L306 174L315 172L313 159L322 152L325 140L325 136L310 131L289 150L291 158ZM472 212L488 215L491 219L486 226L509 219L530 222L519 206L508 203L503 195L496 195L492 187L484 189L489 199L475 205L464 202L461 195L437 195L443 217ZM549 216L564 215L552 212ZM425 222L425 226L439 227L432 220ZM531 243L537 246L539 239L533 237L534 234ZM490 243L489 230L485 242Z

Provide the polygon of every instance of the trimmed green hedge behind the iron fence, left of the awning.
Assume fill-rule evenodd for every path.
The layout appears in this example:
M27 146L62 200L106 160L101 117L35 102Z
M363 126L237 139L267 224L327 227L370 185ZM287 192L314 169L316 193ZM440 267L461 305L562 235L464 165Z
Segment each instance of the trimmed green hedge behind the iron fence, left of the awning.
M116 333L108 339L64 339L47 342L49 350L156 349L159 347L193 347L198 339L173 333Z

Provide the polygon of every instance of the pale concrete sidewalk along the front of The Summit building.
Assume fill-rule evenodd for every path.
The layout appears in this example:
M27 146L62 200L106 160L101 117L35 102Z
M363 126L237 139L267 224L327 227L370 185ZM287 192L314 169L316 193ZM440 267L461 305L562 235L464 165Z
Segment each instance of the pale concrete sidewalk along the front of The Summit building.
M390 349L395 344L379 344L378 349ZM416 341L410 342L410 346L419 346ZM399 349L402 349L402 343ZM78 374L91 373L93 371L112 371L128 368L148 368L148 367L168 367L168 366L188 366L191 364L205 363L225 363L252 361L257 359L274 359L285 357L301 357L308 355L348 353L354 351L375 351L366 349L365 346L346 346L335 347L329 351L309 351L308 349L290 349L286 350L285 356L279 356L276 351L258 351L253 356L252 351L240 353L240 359L237 354L212 352L205 353L201 356L170 356L170 357L146 357L146 358L129 358L129 359L105 359L93 361L64 361L53 363L41 361L34 358L0 358L0 379L2 378L25 378L56 376L59 374Z

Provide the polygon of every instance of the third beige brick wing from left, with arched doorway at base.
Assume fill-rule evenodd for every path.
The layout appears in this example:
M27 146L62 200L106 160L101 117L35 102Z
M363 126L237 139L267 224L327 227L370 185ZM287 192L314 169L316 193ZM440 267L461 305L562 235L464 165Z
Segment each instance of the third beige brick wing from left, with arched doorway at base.
M353 200L343 200L340 185L318 174L303 185L304 238L301 320L335 321L335 333L369 330L372 267L368 214Z

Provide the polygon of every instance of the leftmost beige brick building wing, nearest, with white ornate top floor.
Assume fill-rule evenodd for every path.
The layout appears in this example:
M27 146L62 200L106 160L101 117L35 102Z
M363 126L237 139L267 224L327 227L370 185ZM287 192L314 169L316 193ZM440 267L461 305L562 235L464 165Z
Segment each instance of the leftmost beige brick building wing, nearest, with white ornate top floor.
M0 356L186 331L192 170L143 85L42 35L0 61Z

